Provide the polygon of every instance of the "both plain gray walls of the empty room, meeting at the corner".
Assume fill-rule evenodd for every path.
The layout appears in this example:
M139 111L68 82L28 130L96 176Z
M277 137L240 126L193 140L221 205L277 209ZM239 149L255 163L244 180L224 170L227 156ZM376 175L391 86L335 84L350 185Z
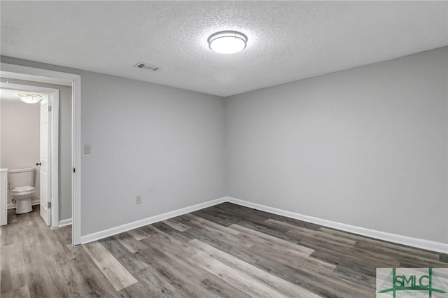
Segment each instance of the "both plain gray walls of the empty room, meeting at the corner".
M1 61L81 75L83 235L228 195L447 242L447 54L227 99Z

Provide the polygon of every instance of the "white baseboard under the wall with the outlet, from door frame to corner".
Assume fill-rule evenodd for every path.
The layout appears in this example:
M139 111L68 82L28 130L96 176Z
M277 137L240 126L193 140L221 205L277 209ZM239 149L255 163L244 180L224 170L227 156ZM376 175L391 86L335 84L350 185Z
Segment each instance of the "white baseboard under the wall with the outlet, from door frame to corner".
M167 213L162 213L160 215L154 215L154 216L151 216L149 218L144 218L143 220L137 220L135 222L130 222L130 223L127 223L125 225L120 225L118 227L112 227L111 229L105 229L105 230L100 231L100 232L87 234L87 235L81 236L81 243L82 244L89 243L89 242L96 241L96 240L99 240L99 239L103 239L103 238L106 238L106 237L109 237L109 236L113 236L113 235L116 235L116 234L127 232L130 229L137 229L137 227L143 227L145 225L151 225L151 224L153 224L155 222L160 222L162 220L167 220L169 218L175 218L176 216L179 216L179 215L183 215L183 214L190 213L190 212L193 212L193 211L197 211L197 210L200 210L200 209L203 209L203 208L207 208L207 207L210 207L210 206L214 206L214 205L217 205L217 204L224 203L225 201L227 201L226 197L223 197L221 199L214 199L214 200L206 201L204 203L196 204L196 205L193 205L193 206L190 206L190 207L185 207L185 208L177 209L177 210L174 210L174 211L169 211Z

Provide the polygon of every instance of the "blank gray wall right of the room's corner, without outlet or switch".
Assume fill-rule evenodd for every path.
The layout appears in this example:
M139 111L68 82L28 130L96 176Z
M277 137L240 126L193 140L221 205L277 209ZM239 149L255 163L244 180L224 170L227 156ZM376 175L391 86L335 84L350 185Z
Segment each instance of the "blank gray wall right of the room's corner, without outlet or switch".
M447 243L447 62L439 48L226 99L227 194Z

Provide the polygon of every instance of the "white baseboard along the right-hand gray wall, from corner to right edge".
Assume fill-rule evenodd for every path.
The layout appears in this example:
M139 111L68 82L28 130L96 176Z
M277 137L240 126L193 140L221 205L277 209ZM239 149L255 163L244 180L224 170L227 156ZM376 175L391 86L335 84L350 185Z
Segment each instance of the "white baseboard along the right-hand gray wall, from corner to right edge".
M333 229L340 229L345 232L351 232L354 234L359 234L367 237L372 237L374 239L389 241L393 243L403 244L405 246L414 246L416 248L423 248L426 250L432 250L439 253L448 253L448 243L440 243L435 241L429 241L424 239L412 238L409 236L402 236L398 234L391 234L386 232L376 231L374 229L365 229L363 227L356 227L353 225L346 225L341 222L333 222L331 220L323 220L321 218L314 218L312 216L303 215L300 213L294 213L290 211L285 211L278 208L273 208L265 205L260 205L252 203L250 201L244 201L241 199L235 199L228 197L227 201L233 204L246 206L248 208L257 209L260 211L265 211L269 213L274 213L276 215L281 215L286 218L294 218L296 220L303 220L304 222L312 222L317 225L322 225L325 227L332 227Z

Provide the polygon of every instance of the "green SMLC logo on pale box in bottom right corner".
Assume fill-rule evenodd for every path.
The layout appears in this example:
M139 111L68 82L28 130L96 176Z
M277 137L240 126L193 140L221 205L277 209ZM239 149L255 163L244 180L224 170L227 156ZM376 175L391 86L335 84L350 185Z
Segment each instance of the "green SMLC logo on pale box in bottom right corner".
M441 270L446 270L443 271L443 277L446 277L448 269ZM382 275L384 276L384 272ZM379 271L377 269L378 278ZM433 268L403 268L399 273L396 268L392 268L384 283L377 290L378 294L390 293L393 298L397 297L397 292L401 297L416 296L416 291L420 291L421 295L427 294L429 298L433 297L433 293L448 294Z

